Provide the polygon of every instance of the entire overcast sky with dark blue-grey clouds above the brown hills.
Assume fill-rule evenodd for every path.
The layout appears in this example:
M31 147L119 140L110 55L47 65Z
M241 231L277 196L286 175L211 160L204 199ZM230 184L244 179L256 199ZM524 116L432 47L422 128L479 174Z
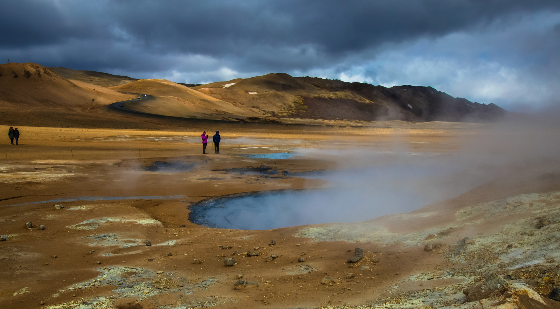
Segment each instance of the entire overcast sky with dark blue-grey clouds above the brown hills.
M0 57L205 84L286 72L560 102L560 1L0 0Z

